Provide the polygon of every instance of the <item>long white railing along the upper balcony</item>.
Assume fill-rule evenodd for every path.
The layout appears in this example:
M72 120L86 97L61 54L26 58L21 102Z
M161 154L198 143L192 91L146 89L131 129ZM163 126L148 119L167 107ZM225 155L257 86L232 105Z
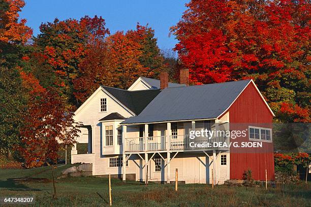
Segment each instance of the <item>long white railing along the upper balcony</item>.
M162 151L162 150L194 150L213 148L213 143L226 143L229 146L229 137L195 137L189 135L149 136L125 139L126 152ZM196 144L204 144L198 147ZM211 146L211 147L208 147Z

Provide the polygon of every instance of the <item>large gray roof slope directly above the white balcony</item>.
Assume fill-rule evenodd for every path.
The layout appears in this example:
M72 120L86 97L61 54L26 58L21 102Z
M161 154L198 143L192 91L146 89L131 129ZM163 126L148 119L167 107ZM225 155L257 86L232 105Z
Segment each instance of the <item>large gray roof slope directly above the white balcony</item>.
M138 116L122 124L217 118L250 82L165 88Z

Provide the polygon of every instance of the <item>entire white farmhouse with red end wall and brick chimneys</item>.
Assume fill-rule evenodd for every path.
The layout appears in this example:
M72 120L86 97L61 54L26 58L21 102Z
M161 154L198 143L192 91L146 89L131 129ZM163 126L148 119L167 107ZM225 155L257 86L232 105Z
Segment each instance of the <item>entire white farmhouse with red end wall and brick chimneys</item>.
M92 175L111 174L123 181L148 179L169 183L175 181L178 169L179 181L211 183L213 170L214 183L219 184L230 178L241 179L241 170L260 166L262 161L257 156L264 157L265 163L272 159L273 164L272 137L266 134L271 134L269 124L274 115L252 80L189 86L187 70L181 70L181 84L169 83L167 78L167 73L161 73L160 80L140 77L128 90L99 87L75 112L75 121L83 123L77 141L88 143L88 153L79 154L74 147L71 162L92 163ZM239 101L244 96L249 99L247 106ZM191 146L191 130L227 130L226 123L231 119L241 119L236 116L237 110L247 115L254 107L262 107L263 111L248 120L256 124L247 128L259 129L258 141L264 143L265 149L272 146L272 156L270 151L253 153L254 160L247 161L240 155L244 153L231 155L229 146ZM247 132L245 139L254 141L253 136ZM230 142L228 136L213 139ZM211 140L194 140L204 142ZM235 169L240 162L242 167ZM268 180L274 180L274 167L268 164L265 168ZM263 180L261 169L254 178Z

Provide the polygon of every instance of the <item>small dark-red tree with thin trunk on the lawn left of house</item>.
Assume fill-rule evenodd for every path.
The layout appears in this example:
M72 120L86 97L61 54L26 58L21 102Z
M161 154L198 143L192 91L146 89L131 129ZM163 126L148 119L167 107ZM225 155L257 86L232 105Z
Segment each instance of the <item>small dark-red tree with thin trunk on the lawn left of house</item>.
M79 129L67 102L52 88L43 88L31 73L20 72L22 85L28 90L24 124L20 128L21 144L16 146L26 167L41 166L51 161L54 194L56 188L53 163L58 152L76 143Z

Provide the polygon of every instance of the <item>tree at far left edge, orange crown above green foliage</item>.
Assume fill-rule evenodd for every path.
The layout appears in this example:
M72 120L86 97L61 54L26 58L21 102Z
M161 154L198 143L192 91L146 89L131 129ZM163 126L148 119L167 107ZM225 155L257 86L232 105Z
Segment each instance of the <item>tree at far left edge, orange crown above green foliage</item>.
M0 156L11 157L13 145L20 142L19 129L23 124L25 91L17 66L26 50L25 43L32 29L19 20L25 5L20 0L0 1Z

